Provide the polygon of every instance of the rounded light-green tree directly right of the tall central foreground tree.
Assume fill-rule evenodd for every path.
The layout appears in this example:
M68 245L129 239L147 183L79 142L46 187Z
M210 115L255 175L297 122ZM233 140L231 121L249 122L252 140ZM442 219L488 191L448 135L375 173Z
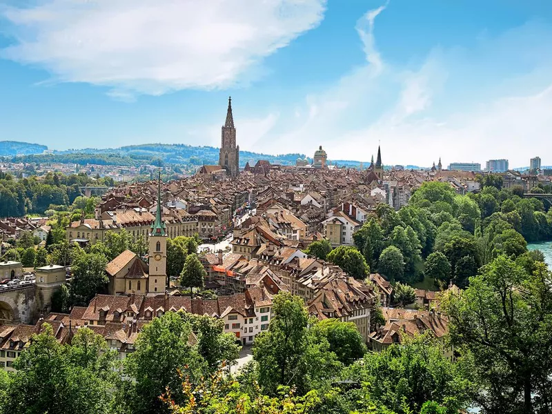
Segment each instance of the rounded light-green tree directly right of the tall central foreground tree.
M313 326L314 335L321 335L330 344L339 362L350 365L366 353L364 339L353 322L324 319Z

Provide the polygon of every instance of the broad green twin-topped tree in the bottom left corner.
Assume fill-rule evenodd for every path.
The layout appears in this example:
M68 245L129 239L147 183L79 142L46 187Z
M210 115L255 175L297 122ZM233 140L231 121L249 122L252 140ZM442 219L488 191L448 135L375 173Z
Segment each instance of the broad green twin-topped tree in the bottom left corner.
M80 328L75 344L65 346L57 342L49 324L42 328L14 362L17 373L9 386L6 412L108 414L115 355L105 340ZM90 342L85 344L83 337ZM84 353L87 358L76 357Z

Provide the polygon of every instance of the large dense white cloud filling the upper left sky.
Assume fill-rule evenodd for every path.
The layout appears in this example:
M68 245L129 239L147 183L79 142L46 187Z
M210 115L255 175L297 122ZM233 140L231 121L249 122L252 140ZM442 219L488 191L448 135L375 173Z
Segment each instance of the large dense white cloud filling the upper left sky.
M326 0L48 0L5 8L18 43L1 56L111 95L225 88L323 19Z

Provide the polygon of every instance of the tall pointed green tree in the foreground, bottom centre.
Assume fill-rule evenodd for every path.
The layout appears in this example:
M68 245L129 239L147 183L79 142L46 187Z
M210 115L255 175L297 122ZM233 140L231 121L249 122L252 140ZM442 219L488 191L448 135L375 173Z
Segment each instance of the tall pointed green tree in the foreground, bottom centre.
M268 331L259 333L253 344L264 393L274 395L284 385L303 394L335 375L339 365L328 341L309 335L303 299L282 291L273 297L273 311Z

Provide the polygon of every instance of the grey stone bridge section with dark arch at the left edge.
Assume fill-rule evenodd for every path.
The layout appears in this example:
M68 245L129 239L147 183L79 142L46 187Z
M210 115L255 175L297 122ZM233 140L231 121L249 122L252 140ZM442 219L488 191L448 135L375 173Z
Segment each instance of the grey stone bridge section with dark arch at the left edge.
M32 324L43 307L41 288L34 283L0 289L0 324Z

